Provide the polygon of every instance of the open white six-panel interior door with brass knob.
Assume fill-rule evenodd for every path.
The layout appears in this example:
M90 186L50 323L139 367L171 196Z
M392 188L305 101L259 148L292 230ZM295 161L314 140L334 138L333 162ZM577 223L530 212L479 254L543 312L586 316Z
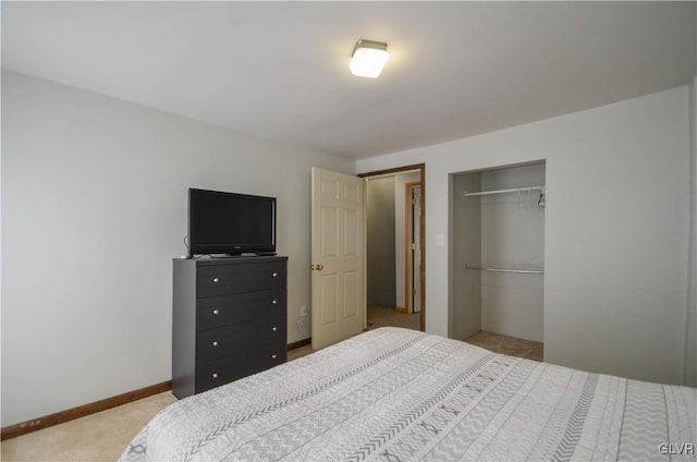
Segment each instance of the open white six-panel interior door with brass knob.
M313 350L363 331L364 180L313 168Z

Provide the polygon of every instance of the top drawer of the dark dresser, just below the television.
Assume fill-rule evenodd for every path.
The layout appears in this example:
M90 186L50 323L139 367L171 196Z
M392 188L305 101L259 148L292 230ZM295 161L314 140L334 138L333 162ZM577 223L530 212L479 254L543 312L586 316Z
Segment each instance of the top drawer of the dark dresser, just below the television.
M285 288L285 263L209 265L198 268L196 296L219 296Z

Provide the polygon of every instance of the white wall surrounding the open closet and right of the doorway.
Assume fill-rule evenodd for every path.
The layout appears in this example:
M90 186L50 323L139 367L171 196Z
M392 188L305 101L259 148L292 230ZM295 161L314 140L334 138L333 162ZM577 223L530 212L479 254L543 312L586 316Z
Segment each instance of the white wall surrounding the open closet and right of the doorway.
M547 160L546 361L681 384L689 132L683 86L356 169L426 162L426 329L447 335L449 174Z

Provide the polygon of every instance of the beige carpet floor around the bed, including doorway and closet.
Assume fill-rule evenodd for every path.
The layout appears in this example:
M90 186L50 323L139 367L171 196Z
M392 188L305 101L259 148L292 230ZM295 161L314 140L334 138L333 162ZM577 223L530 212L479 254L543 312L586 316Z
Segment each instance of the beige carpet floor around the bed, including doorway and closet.
M396 314L393 309L374 312L369 328L389 326L389 318L401 327L419 328L416 315ZM411 320L408 320L411 319ZM542 358L542 345L537 342L479 332L466 341L517 356ZM516 350L518 349L518 350ZM289 352L289 361L311 353L309 345ZM34 431L0 443L2 461L115 461L129 442L160 410L176 401L171 392L156 394L119 408L77 418L65 424Z

